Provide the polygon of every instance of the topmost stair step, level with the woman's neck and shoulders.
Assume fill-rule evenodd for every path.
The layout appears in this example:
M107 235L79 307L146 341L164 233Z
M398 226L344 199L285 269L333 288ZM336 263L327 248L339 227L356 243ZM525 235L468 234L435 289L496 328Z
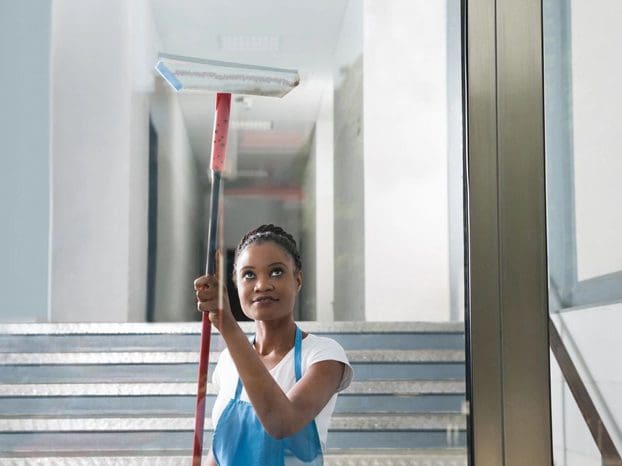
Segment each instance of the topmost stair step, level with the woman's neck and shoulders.
M305 331L329 335L346 350L464 349L462 323L434 322L299 322ZM254 326L242 322L250 336ZM70 351L194 351L199 348L200 323L0 324L0 352ZM415 338L404 338L404 335ZM212 331L212 349L224 342Z

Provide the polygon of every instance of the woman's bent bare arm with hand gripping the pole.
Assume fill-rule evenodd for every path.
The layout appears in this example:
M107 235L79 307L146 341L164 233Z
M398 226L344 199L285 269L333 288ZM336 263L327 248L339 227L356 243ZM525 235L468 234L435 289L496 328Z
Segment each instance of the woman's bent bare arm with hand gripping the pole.
M274 380L231 313L227 292L215 276L195 281L199 310L209 312L236 365L248 398L264 428L274 438L288 437L313 420L335 394L345 365L339 361L312 364L286 394ZM222 310L218 293L224 293Z

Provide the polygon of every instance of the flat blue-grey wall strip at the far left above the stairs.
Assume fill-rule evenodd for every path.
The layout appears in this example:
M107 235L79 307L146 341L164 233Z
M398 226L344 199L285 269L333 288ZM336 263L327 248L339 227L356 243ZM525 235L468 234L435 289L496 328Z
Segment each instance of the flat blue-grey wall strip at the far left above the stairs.
M50 2L0 3L0 322L46 321Z

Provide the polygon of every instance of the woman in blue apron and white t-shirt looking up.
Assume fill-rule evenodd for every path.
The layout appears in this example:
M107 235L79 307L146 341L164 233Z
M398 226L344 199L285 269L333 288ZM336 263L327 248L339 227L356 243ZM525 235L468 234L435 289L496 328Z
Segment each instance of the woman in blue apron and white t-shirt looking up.
M301 268L294 238L280 227L262 225L240 241L233 275L242 310L255 321L252 343L231 313L225 284L215 275L194 283L198 309L227 344L212 377L219 393L209 464L322 464L337 393L352 368L337 342L296 326Z

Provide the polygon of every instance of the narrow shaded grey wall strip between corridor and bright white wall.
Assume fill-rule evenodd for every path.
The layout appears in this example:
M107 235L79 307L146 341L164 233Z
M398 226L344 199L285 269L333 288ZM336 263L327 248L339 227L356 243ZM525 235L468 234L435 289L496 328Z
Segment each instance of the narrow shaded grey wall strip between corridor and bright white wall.
M365 320L363 18L350 1L335 50L333 94L334 316Z

